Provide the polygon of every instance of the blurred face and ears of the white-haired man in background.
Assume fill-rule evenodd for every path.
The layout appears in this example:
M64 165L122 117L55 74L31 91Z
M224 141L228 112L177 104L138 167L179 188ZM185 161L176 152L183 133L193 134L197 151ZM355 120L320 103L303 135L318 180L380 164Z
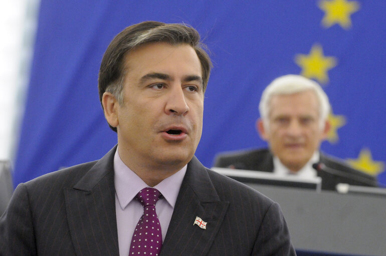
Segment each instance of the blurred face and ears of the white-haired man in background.
M308 162L328 130L328 125L319 125L319 104L312 91L273 96L267 121L266 128L259 121L259 132L272 153L292 171Z

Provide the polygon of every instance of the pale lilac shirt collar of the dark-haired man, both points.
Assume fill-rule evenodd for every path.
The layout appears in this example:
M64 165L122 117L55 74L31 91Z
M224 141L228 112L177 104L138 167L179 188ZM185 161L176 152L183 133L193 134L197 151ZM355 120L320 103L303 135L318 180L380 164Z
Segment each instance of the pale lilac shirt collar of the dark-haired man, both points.
M183 177L185 176L186 168L187 165L154 186L173 208ZM114 184L118 202L122 210L126 208L142 188L148 187L135 172L123 163L119 156L118 148L114 155Z

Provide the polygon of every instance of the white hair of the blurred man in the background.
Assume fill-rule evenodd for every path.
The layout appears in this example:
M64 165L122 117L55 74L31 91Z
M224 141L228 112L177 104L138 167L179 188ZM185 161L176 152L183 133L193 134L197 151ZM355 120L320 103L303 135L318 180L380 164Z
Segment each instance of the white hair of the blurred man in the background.
M299 75L285 75L273 80L267 88L264 89L261 96L259 111L263 124L268 128L268 118L271 111L271 99L275 95L289 95L299 92L312 90L315 92L319 103L319 124L324 128L324 122L330 113L330 103L328 97L318 83Z

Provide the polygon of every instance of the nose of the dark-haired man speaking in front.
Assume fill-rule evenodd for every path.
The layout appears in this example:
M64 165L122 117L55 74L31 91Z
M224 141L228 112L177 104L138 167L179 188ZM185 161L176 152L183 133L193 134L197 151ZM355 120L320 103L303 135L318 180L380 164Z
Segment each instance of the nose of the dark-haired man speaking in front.
M183 88L175 86L169 91L165 106L166 114L185 115L189 111Z

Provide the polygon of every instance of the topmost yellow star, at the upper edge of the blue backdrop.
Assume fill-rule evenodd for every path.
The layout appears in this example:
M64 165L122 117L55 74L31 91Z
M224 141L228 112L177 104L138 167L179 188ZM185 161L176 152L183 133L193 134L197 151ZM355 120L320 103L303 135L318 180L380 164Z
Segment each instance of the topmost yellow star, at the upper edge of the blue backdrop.
M350 15L359 10L359 4L356 1L322 0L319 1L319 8L325 12L322 20L325 28L339 24L347 30L351 27Z

